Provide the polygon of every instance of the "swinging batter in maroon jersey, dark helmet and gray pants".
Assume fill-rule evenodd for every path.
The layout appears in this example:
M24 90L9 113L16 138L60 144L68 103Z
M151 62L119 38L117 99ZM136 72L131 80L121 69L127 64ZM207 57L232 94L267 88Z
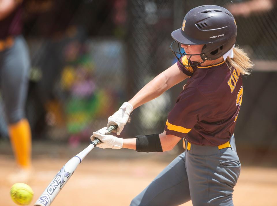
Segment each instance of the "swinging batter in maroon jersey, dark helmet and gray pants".
M252 62L234 47L237 27L232 14L220 6L204 5L190 10L171 33L171 50L178 62L159 74L125 102L108 125L117 124L119 135L134 108L173 85L188 79L164 132L122 139L93 132L100 148L130 148L139 152L168 151L183 138L185 152L173 160L131 205L233 205L232 192L240 174L234 129L242 104L242 75ZM174 45L177 50L174 50ZM185 53L181 52L184 48Z

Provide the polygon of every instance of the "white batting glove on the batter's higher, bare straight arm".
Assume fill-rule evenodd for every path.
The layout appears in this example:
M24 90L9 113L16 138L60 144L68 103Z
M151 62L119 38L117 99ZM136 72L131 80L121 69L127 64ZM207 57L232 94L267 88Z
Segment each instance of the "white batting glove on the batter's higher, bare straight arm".
M107 127L117 125L116 134L119 135L126 125L132 111L132 104L124 102L119 110L108 118Z

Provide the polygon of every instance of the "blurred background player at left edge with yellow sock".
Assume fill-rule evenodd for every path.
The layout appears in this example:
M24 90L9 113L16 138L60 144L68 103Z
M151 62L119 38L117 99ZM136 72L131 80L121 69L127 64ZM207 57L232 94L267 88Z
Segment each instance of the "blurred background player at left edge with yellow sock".
M29 179L31 166L31 130L25 119L25 101L29 81L29 52L22 30L22 1L0 1L0 86L5 104L8 130L19 171L11 182Z

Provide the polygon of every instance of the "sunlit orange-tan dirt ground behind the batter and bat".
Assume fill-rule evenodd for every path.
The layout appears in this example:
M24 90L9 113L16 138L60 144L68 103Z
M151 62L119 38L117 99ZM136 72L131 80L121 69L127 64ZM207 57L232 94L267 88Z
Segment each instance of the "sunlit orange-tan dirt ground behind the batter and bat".
M36 151L36 147L34 150L33 175L28 182L34 191L31 205L59 169L81 151L82 147L71 149L70 152L65 152L65 148L52 148L56 153L43 153L39 149ZM138 158L135 151L121 151L93 149L51 205L129 205L132 198L175 156L167 152L144 153ZM11 153L3 153L0 154L0 205L12 206L15 205L9 194L12 184L6 177L14 171L15 164ZM277 205L277 168L243 166L235 186L233 201L235 205ZM192 203L183 205L188 206Z

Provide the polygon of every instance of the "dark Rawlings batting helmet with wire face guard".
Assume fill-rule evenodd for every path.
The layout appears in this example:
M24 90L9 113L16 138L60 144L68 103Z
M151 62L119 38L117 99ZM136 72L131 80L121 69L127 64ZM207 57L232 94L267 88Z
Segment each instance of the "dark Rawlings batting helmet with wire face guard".
M186 51L181 52L180 44L204 44L201 54L190 54L190 58L193 55L200 55L204 62L222 57L233 47L237 37L237 25L235 18L227 9L216 5L203 5L190 10L181 28L173 31L171 36L175 41L172 42L170 49L181 64L183 63L180 59L186 55ZM178 44L178 50L173 49L174 44ZM193 66L203 62L183 65Z

